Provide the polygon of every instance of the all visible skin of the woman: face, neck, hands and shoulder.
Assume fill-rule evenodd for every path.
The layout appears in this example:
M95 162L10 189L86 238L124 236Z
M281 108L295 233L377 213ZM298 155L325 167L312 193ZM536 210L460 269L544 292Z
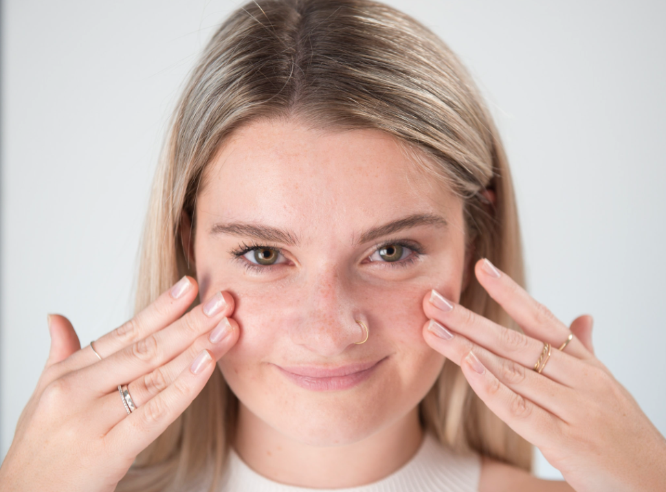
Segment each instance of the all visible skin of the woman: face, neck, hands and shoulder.
M591 318L564 326L486 260L471 265L462 204L429 182L379 131L265 120L240 128L208 168L197 223L183 219L198 281L184 277L96 340L101 360L67 318L49 316L49 359L0 467L3 491L113 491L217 368L241 402L232 444L250 467L305 487L374 482L419 448L417 405L445 358L568 482L484 458L480 492L658 490L666 440L595 357ZM412 214L445 225L358 242ZM252 238L217 227L230 221L289 229L300 241L274 238L274 269L247 270L254 252L243 260L230 250ZM377 245L397 241L414 248L399 261L420 256L390 266ZM457 304L471 275L524 335ZM203 302L188 311L197 293ZM355 320L369 327L364 344ZM537 373L544 342L553 350ZM359 362L377 365L357 385L326 391L278 368ZM118 383L128 382L131 414L118 401Z

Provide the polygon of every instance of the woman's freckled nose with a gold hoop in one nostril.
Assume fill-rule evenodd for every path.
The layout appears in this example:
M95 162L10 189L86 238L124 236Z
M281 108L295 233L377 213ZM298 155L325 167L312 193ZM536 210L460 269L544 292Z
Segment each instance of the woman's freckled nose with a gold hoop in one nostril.
M367 321L355 306L348 279L334 266L318 269L303 287L298 315L289 326L291 342L322 357L335 357L362 342Z

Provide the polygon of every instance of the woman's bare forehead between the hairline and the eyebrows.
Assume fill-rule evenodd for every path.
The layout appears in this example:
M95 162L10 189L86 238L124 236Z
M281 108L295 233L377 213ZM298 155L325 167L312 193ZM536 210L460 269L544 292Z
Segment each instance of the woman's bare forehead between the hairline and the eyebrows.
M348 232L416 213L450 220L452 193L433 186L397 140L377 130L322 131L285 120L247 124L211 161L199 219ZM450 212L450 210L449 210Z

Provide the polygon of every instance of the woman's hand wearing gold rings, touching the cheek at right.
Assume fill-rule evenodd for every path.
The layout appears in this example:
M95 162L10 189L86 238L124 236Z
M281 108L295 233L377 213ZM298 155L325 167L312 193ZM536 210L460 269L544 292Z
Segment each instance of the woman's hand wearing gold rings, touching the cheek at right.
M423 327L425 341L458 364L490 410L577 492L663 490L666 440L592 353L591 319L572 326L585 344L573 337L558 350L569 329L548 309L487 260L475 273L525 335L428 293L423 309L434 322ZM551 356L538 374L546 342Z

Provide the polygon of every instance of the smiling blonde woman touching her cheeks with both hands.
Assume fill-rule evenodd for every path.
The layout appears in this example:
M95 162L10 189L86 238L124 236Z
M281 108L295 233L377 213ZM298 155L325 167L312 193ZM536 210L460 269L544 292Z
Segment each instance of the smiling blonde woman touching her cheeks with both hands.
M3 488L666 480L665 440L593 355L590 318L568 328L520 287L498 133L400 12L232 14L179 102L143 251L133 320L81 349L50 318ZM532 445L566 483L529 475Z

